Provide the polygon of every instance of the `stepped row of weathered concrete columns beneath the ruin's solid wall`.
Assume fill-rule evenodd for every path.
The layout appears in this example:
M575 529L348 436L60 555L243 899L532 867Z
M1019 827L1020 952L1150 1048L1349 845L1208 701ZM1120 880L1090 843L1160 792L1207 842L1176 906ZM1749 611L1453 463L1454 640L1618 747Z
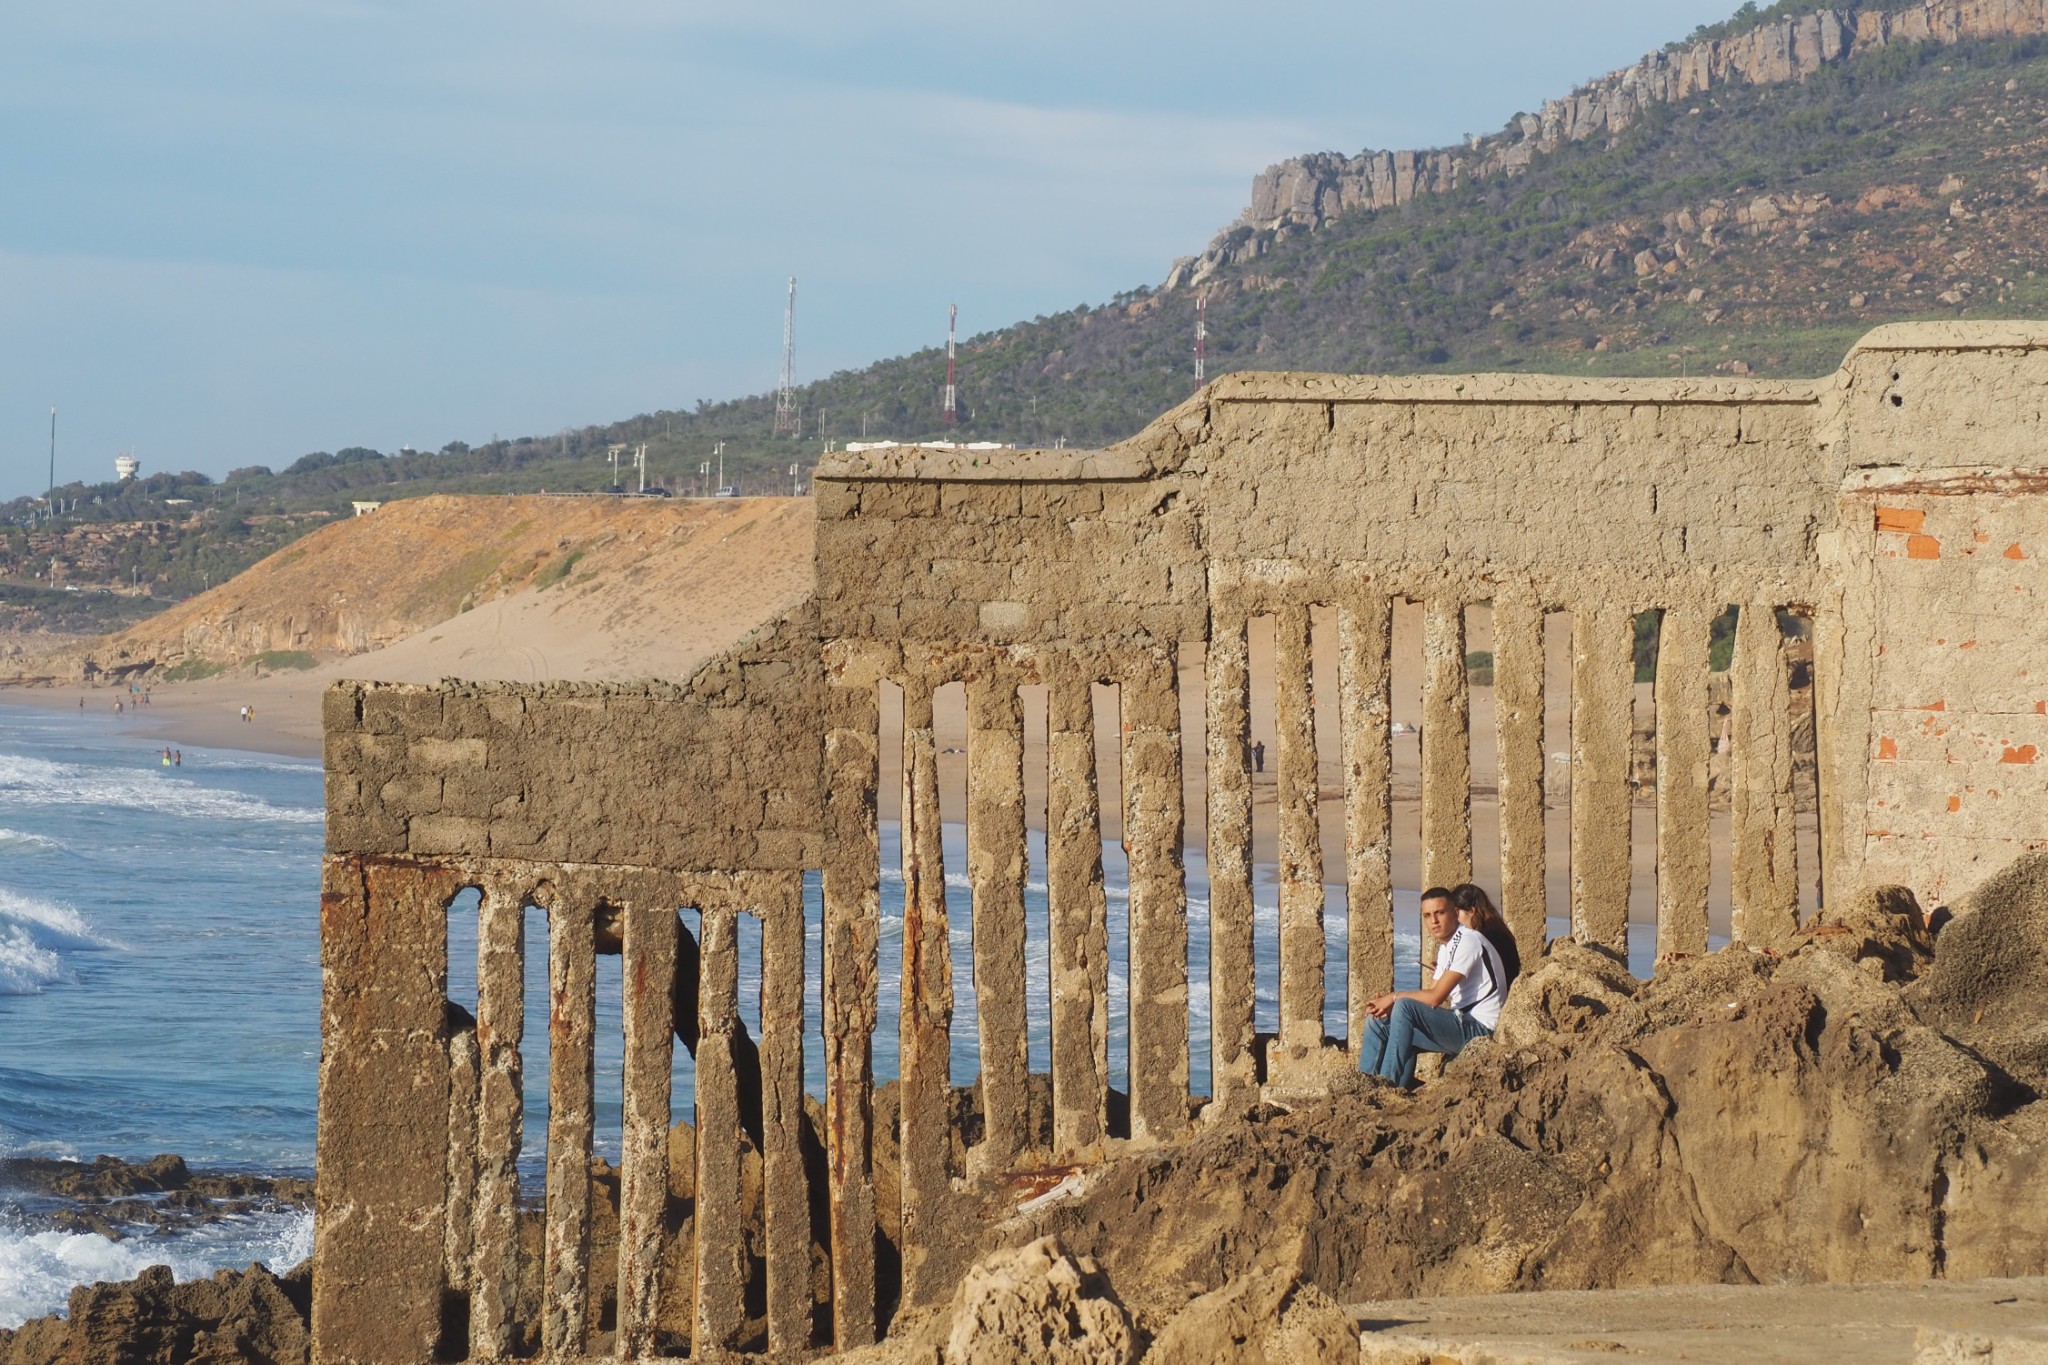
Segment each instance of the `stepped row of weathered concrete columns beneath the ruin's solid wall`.
M1544 933L1544 604L1497 591L1493 602L1495 722L1501 808L1501 902L1524 943ZM1470 700L1466 604L1423 602L1423 880L1473 874ZM1280 1031L1257 1064L1253 1031L1251 669L1253 612L1219 612L1206 649L1206 855L1210 894L1212 1093L1225 1107L1257 1097L1262 1081L1311 1083L1348 1066L1364 1003L1393 984L1391 874L1391 622L1389 598L1335 608L1337 716L1343 767L1343 878L1350 902L1350 1017L1325 1040L1327 925L1315 729L1311 608L1280 606L1274 622L1276 806L1280 894ZM1708 874L1708 630L1718 608L1671 606L1663 618L1657 700L1659 950L1706 948ZM1571 911L1585 939L1626 948L1628 786L1634 653L1628 608L1573 612L1571 667ZM944 896L938 745L932 696L944 677L905 675L903 690L903 970L901 970L901 1267L903 1304L950 1291L952 1248L938 1230L963 1181L1001 1175L1024 1158L1087 1162L1110 1142L1108 896L1102 868L1092 688L1120 688L1118 788L1130 870L1128 1134L1159 1142L1190 1121L1188 921L1182 868L1182 731L1171 647L1104 661L981 657L967 684L967 876L973 886L973 974L979 1013L983 1140L954 1169L950 1126L952 960ZM1047 688L1047 886L1051 962L1051 1152L1034 1150L1028 1113L1024 970L1024 718L1018 686ZM1733 679L1735 933L1772 943L1798 911L1786 661L1776 612L1741 614ZM879 995L879 737L874 688L836 688L825 735L827 857L823 866L825 1171L831 1216L831 1306L842 1347L877 1334L874 1068ZM334 862L334 860L330 860ZM348 860L338 860L348 862ZM330 868L332 872L334 868ZM651 880L649 880L651 876ZM799 1156L803 1124L803 907L799 872L649 874L559 868L545 876L489 868L387 868L342 878L369 921L373 900L444 915L461 886L481 886L477 1011L444 1009L440 1064L446 1144L422 1138L444 1166L434 1224L440 1277L469 1297L469 1351L510 1355L518 1340L518 1152L524 1017L524 907L549 911L549 1144L541 1345L582 1355L590 1308L590 1154L594 1138L596 954L625 954L625 1132L621 1148L618 1353L657 1347L664 1297L670 1068L678 1027L696 1048L696 1257L692 1340L737 1345L748 1267L741 1209L741 1078L737 1072L737 917L764 923L762 1158L772 1351L811 1334L809 1205ZM694 952L678 954L676 907L702 913ZM360 937L360 935L358 935ZM346 935L336 939L346 943ZM444 960L444 925L442 925ZM418 948L430 948L424 939ZM688 948L688 945L686 945ZM373 948L362 945L369 954ZM381 952L391 952L383 945ZM678 972L694 970L696 1019L674 1013ZM444 993L444 986L442 986ZM422 997L426 999L426 997ZM328 1046L348 1062L348 1019L330 1011ZM371 1027L371 1021L362 1021ZM358 1040L360 1042L360 1040ZM342 1076L346 1066L324 1066ZM428 1066L432 1070L432 1066ZM1264 1074L1262 1074L1264 1072ZM434 1076L426 1076L432 1085ZM371 1093L369 1087L365 1093ZM336 1099L344 1099L336 1095ZM324 1095L326 1105L326 1095ZM326 1113L326 1107L324 1107ZM324 1132L324 1160L328 1152ZM346 1142L336 1150L348 1150ZM330 1183L324 1166L324 1201ZM393 1214L391 1218L397 1218ZM332 1220L328 1220L332 1222ZM360 1216L354 1234L375 1220ZM385 1220L385 1232L393 1226ZM344 1224L340 1240L352 1232ZM422 1244L424 1246L424 1244ZM668 1287L674 1293L674 1287ZM424 1310L422 1310L424 1312Z

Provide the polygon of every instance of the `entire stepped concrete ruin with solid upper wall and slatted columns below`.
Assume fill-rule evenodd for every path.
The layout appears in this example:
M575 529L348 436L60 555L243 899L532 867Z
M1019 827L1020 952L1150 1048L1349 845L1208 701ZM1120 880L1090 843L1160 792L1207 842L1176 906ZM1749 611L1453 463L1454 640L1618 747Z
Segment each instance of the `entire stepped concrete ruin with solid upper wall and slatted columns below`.
M1475 874L1466 630L1489 610L1501 851L1497 880L1479 874L1526 943L1542 941L1556 862L1542 829L1542 636L1556 616L1573 645L1579 937L1624 948L1630 935L1642 612L1661 612L1659 956L1708 948L1708 634L1731 604L1733 937L1786 943L1800 876L1831 894L1896 882L1923 905L1960 900L2048 847L2044 422L2048 327L2023 323L1884 327L1812 383L1233 375L1110 450L827 460L815 593L690 679L336 686L315 1359L864 1345L895 1306L952 1293L967 1222L1112 1152L1174 1142L1262 1087L1350 1068L1364 1001L1395 972L1397 602L1425 618L1425 882ZM1794 857L1782 616L1812 634L1819 870ZM1253 1029L1247 649L1266 620L1280 905L1270 1040ZM1317 753L1311 665L1329 628L1350 1003L1337 1038L1325 1036L1317 772L1329 755ZM965 868L946 866L940 837L934 694L952 684L969 726ZM1116 774L1098 772L1100 684L1118 688ZM1026 735L1026 688L1044 690L1042 737ZM1196 753L1190 706L1206 735ZM883 810L897 708L901 808ZM1049 1078L1030 1074L1026 1050L1026 753L1044 761ZM1190 759L1206 772L1192 810ZM1120 810L1104 810L1108 776ZM903 960L899 1076L879 1105L885 821L901 821ZM1190 1093L1190 827L1208 866L1206 1107ZM1128 851L1126 1093L1110 1085L1106 831ZM948 1064L961 1023L948 872L973 888L971 1132L952 1089L967 1076ZM803 968L807 878L821 980ZM449 907L465 888L481 892L473 1015L446 999ZM549 921L545 1191L520 1191L516 1169L528 905ZM694 935L680 909L698 913ZM741 917L762 925L758 1040L739 1023ZM594 1267L604 952L623 954L625 1011L608 1027L625 1033L625 1115L616 1265ZM823 1015L815 1117L805 999ZM678 1038L696 1056L694 1097L670 1093ZM674 1283L670 1124L692 1099L692 1269ZM899 1124L887 1146L901 1160L883 1183L895 1209L879 1209L877 1113ZM807 1164L805 1144L821 1160ZM522 1193L545 1197L532 1242ZM889 1257L879 1226L895 1230ZM522 1265L541 1285L532 1308ZM594 1312L600 1281L612 1297Z

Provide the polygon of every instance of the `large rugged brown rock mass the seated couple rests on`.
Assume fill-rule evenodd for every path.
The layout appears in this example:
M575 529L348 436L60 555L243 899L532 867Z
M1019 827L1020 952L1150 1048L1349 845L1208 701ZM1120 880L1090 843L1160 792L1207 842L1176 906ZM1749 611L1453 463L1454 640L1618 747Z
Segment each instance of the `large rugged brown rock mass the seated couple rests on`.
M1233 1115L1024 1228L1096 1257L1141 1324L1266 1273L1337 1302L2040 1275L2044 886L2048 855L1995 878L1913 982L1886 980L1925 943L1890 892L1786 958L1649 982L1561 941L1417 1095Z

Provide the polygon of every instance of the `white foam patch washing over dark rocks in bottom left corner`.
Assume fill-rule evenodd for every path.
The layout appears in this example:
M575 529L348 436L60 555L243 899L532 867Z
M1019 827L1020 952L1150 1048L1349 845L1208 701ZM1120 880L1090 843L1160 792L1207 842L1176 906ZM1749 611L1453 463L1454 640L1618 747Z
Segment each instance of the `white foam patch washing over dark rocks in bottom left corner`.
M121 1242L96 1232L25 1232L0 1226L0 1328L66 1312L74 1285L135 1279L168 1265L178 1279L203 1279L252 1261L283 1275L313 1250L313 1214L238 1214L170 1236Z

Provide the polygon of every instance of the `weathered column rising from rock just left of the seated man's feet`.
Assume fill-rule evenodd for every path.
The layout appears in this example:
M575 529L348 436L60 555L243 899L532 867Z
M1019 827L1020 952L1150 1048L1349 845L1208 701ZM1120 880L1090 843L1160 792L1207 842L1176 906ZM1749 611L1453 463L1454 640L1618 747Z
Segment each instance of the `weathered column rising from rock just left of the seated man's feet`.
M1309 608L1274 618L1274 739L1280 806L1280 1050L1323 1046L1323 837L1317 821L1315 671Z

